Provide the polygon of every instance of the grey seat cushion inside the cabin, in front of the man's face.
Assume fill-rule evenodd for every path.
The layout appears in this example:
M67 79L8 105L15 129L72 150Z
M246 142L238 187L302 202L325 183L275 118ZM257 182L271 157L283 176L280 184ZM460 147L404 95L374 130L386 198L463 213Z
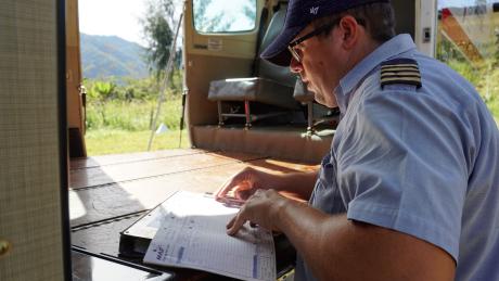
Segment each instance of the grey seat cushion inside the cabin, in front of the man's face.
M210 101L252 101L285 108L297 108L293 88L267 78L236 78L209 84Z

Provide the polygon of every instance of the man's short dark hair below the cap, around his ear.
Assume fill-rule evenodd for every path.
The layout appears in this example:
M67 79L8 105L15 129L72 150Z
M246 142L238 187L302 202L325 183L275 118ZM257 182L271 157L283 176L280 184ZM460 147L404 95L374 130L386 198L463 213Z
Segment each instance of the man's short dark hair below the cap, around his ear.
M345 15L351 15L357 22L366 27L371 38L379 42L385 42L395 36L395 14L391 3L371 3L349 9L340 14L333 14L318 18L312 25L318 28L323 25L333 24L331 28L324 30L329 35Z

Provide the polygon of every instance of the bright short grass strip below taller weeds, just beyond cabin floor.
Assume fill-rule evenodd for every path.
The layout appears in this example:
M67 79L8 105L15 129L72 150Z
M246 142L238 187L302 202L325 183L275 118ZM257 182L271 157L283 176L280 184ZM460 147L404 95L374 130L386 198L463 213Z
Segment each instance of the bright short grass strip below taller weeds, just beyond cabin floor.
M131 153L148 150L151 131L140 130L120 130L120 129L97 129L87 131L85 139L87 143L88 156L104 154ZM179 148L179 130L170 130L162 135L155 135L152 151L170 150ZM190 141L187 130L182 131L182 145L180 148L190 148Z

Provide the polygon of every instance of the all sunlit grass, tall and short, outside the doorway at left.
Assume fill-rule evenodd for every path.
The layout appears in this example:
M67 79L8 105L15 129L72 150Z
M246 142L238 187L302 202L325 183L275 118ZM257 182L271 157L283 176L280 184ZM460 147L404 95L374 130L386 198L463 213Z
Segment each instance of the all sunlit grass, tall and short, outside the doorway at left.
M148 150L156 102L143 100L89 100L87 106L87 155L141 152ZM178 149L180 140L180 95L169 97L162 105L156 128L163 123L169 131L155 135L152 151ZM187 130L182 131L182 149L190 148Z

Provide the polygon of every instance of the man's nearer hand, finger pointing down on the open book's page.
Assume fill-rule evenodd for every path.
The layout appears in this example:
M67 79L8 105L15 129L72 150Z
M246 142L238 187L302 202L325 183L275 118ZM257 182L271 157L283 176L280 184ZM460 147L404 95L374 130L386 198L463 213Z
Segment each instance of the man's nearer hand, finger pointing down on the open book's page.
M280 208L284 207L287 199L274 190L256 190L241 207L240 212L227 225L227 233L233 235L241 227L250 221L268 230L279 231L277 227Z

